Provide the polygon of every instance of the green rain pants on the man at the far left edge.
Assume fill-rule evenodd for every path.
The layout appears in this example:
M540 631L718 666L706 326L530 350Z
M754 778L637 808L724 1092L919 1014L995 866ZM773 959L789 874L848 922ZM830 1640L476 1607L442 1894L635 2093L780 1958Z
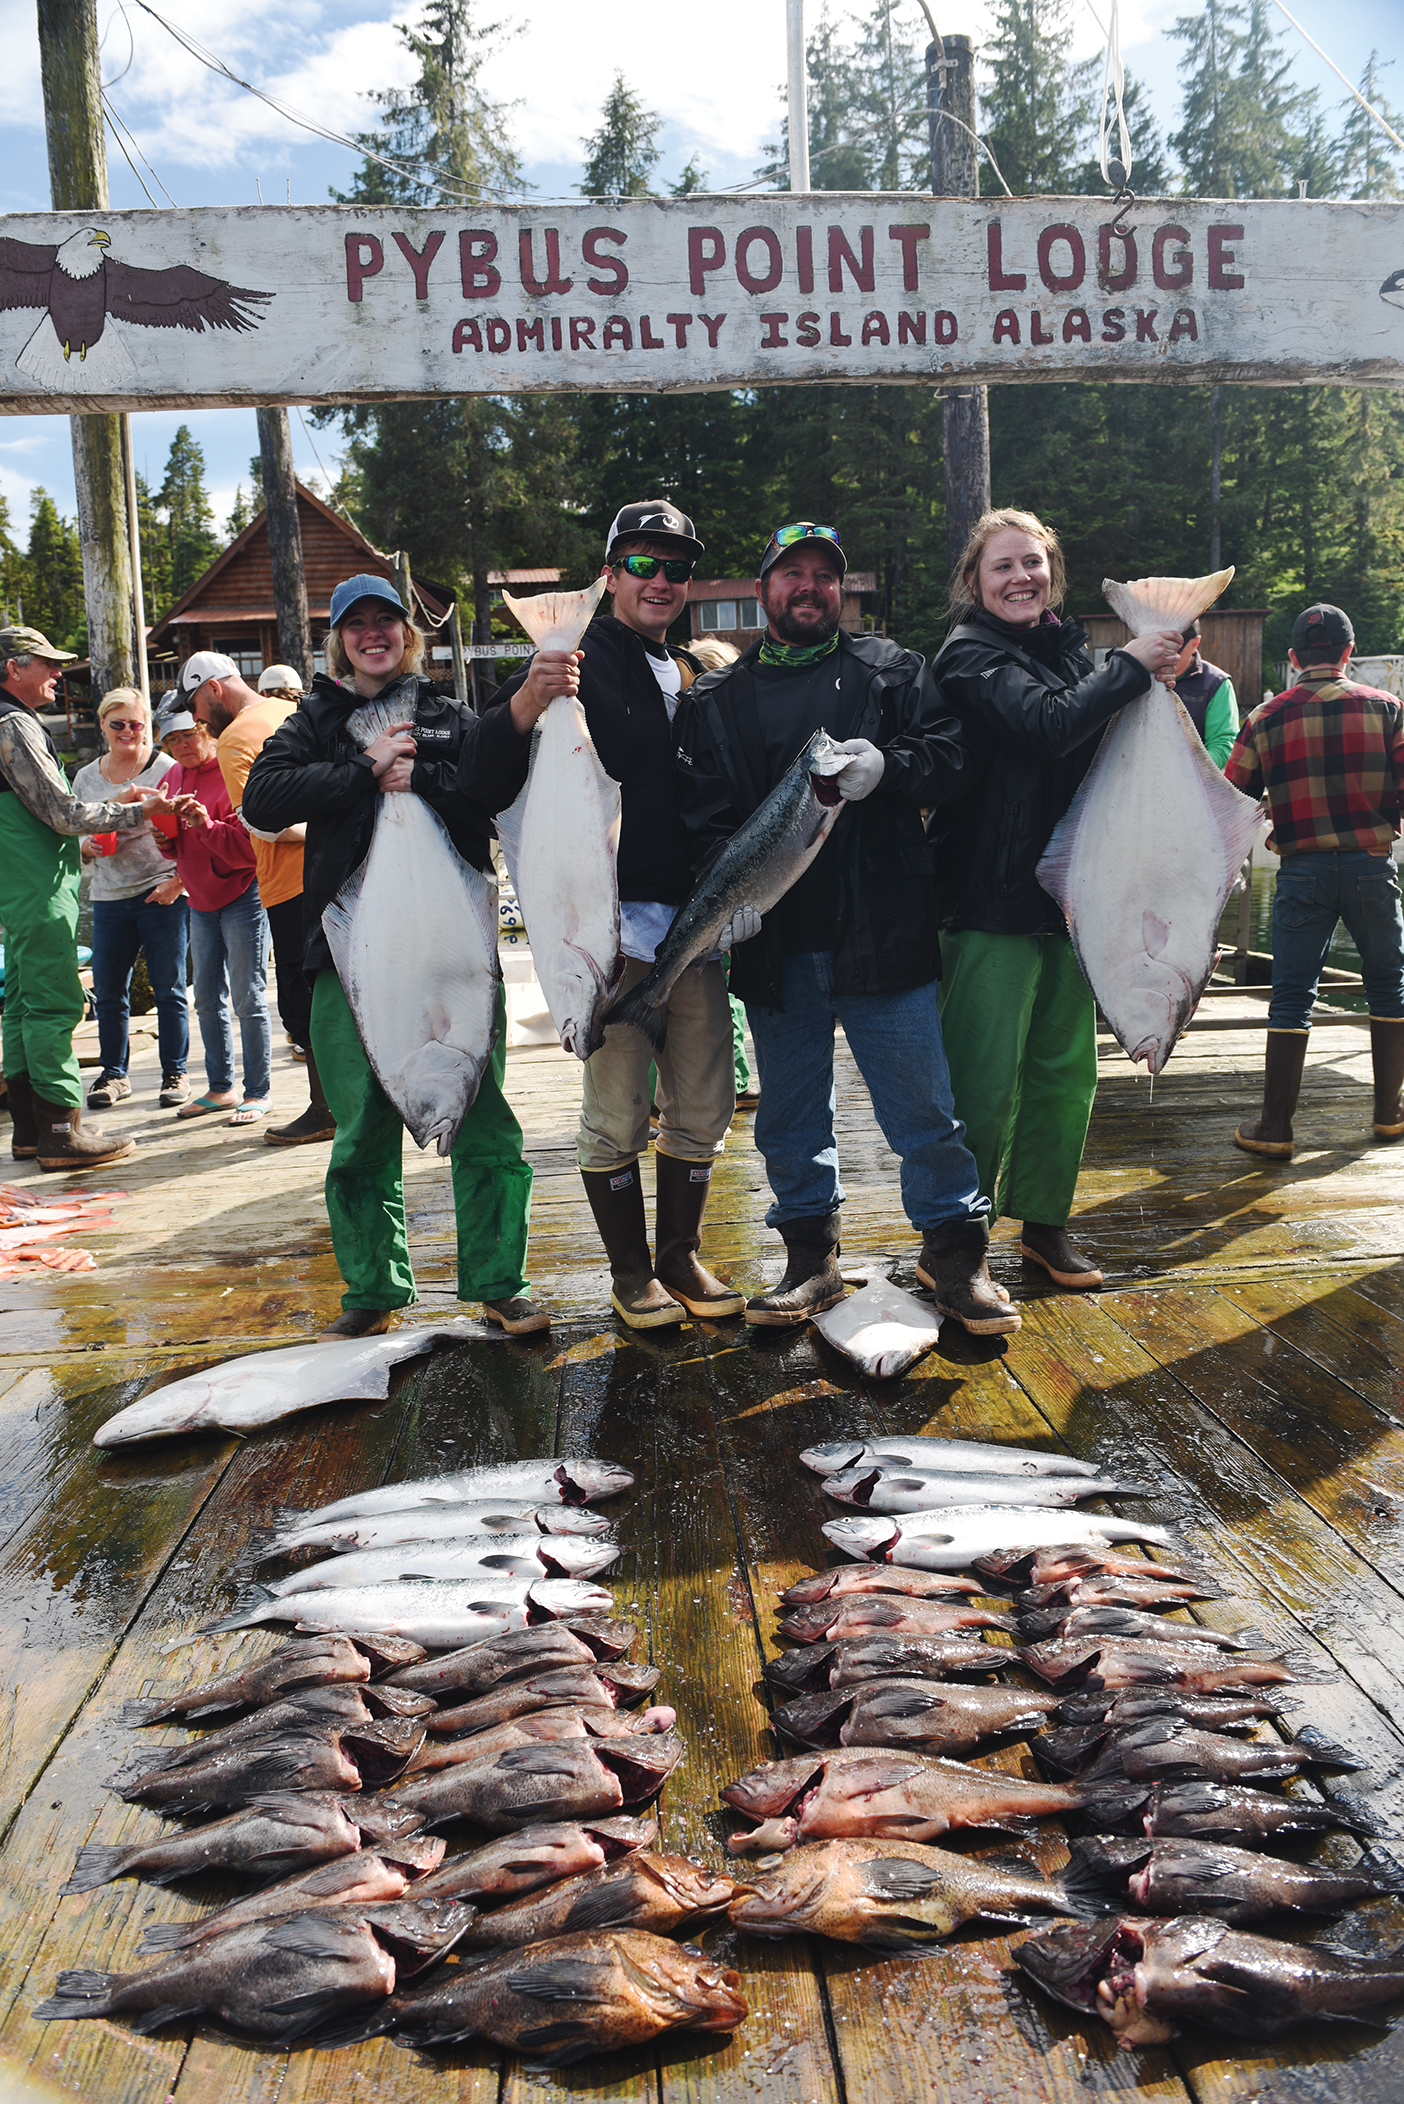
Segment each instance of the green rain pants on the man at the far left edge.
M44 1102L82 1102L74 1031L78 983L78 842L0 795L0 922L4 924L4 1071L27 1073Z

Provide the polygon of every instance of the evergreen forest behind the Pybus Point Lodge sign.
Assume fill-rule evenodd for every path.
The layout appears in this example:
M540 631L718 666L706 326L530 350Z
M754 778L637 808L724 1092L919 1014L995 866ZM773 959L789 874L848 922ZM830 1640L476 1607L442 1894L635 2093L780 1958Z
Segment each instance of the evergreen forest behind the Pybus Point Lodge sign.
M1000 0L977 50L979 126L1017 196L1105 196L1095 133L1101 67L1069 61L1071 0ZM924 189L922 44L895 0L867 13L825 6L808 40L810 166L817 189ZM1396 198L1400 156L1353 101L1303 90L1269 0L1206 0L1172 27L1179 122L1156 130L1128 80L1139 196ZM427 0L398 36L417 78L368 97L366 158L341 202L434 204L465 189L522 196L512 112L480 86L499 32L474 0ZM1398 130L1377 53L1362 95ZM777 95L779 99L779 95ZM661 116L615 76L598 130L581 141L591 198L688 196L693 158L661 168ZM392 173L379 158L408 164ZM787 189L785 133L756 189ZM989 158L981 183L996 194ZM1301 189L1305 185L1305 191ZM1303 330L1309 295L1303 290ZM322 490L379 547L455 585L478 635L488 572L558 564L596 574L604 530L636 497L682 505L707 543L699 570L751 576L773 524L838 524L853 568L878 581L878 623L932 652L945 633L941 393L907 387L768 387L703 396L478 396L318 410L335 427L339 473ZM1103 610L1101 579L1208 568L1221 452L1219 541L1238 574L1225 604L1269 610L1265 659L1286 652L1292 614L1335 600L1364 652L1404 644L1404 396L1301 387L991 387L991 486L1057 526L1067 606ZM139 478L147 619L156 621L257 509L238 492L217 522L200 446L177 429L160 486ZM78 534L42 488L27 539L0 497L0 600L82 650Z

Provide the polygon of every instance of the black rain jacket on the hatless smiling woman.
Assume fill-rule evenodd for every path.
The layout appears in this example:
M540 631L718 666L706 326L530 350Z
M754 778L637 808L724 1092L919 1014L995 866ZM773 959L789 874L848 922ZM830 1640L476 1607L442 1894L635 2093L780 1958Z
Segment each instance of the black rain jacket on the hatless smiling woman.
M1097 757L1099 732L1149 692L1151 675L1124 650L1092 671L1076 621L1017 629L983 610L951 629L932 673L970 755L964 797L926 825L941 926L1067 934L1034 869Z

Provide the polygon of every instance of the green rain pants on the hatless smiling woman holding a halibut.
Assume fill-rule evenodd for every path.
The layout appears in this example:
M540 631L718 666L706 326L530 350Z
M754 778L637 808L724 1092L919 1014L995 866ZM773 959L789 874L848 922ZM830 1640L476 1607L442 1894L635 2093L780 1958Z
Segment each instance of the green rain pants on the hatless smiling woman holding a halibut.
M1097 1006L1071 943L943 934L941 1035L994 1216L1067 1227L1097 1094Z

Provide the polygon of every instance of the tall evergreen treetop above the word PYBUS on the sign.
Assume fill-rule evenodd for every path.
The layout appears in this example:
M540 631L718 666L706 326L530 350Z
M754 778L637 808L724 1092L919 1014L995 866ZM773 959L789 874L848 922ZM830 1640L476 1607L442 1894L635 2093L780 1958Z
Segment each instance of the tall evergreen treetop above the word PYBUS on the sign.
M522 189L507 109L478 86L501 27L478 27L472 0L425 0L417 23L396 23L419 72L408 88L370 95L381 120L356 133L366 160L349 191L333 191L339 204L448 204Z

